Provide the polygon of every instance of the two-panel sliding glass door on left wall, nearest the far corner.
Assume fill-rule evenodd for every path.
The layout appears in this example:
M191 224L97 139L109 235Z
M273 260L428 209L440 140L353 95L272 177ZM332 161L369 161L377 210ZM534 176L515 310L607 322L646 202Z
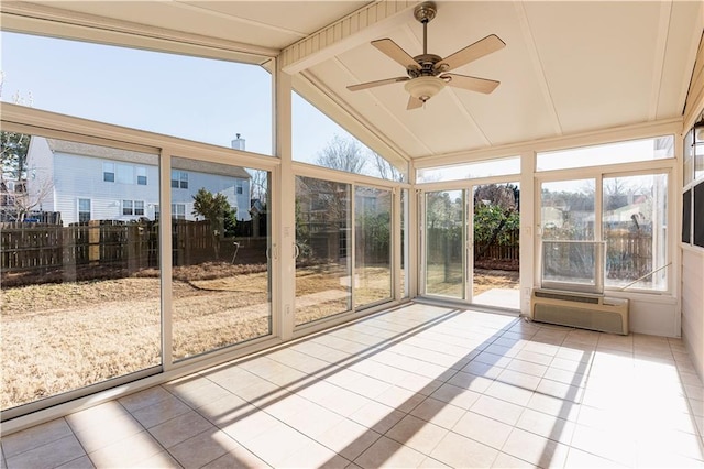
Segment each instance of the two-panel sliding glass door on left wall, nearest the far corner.
M393 192L296 177L295 326L393 297Z

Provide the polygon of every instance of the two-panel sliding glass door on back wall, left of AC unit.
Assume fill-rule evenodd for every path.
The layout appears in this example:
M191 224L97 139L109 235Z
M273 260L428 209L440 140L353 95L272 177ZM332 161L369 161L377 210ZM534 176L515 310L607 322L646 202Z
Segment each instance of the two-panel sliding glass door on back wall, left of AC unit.
M424 294L518 309L518 184L426 192L422 200Z

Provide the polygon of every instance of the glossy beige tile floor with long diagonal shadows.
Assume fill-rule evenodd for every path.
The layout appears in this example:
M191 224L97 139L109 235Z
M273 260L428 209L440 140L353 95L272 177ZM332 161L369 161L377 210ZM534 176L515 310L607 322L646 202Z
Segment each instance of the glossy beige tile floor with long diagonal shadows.
M3 437L2 468L704 467L681 340L410 305Z

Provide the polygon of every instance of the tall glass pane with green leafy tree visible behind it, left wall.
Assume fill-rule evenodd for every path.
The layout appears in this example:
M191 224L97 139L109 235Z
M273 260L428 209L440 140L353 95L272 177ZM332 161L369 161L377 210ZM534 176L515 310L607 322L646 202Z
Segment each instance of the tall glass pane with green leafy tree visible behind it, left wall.
M268 174L174 157L172 189L174 358L272 331ZM250 190L256 175L262 196ZM237 188L243 187L242 193Z

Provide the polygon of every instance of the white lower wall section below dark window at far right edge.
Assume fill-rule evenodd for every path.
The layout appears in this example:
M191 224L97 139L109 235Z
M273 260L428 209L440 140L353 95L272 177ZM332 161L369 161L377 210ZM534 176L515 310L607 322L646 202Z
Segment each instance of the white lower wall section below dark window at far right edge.
M688 249L682 255L682 336L704 379L704 250Z

